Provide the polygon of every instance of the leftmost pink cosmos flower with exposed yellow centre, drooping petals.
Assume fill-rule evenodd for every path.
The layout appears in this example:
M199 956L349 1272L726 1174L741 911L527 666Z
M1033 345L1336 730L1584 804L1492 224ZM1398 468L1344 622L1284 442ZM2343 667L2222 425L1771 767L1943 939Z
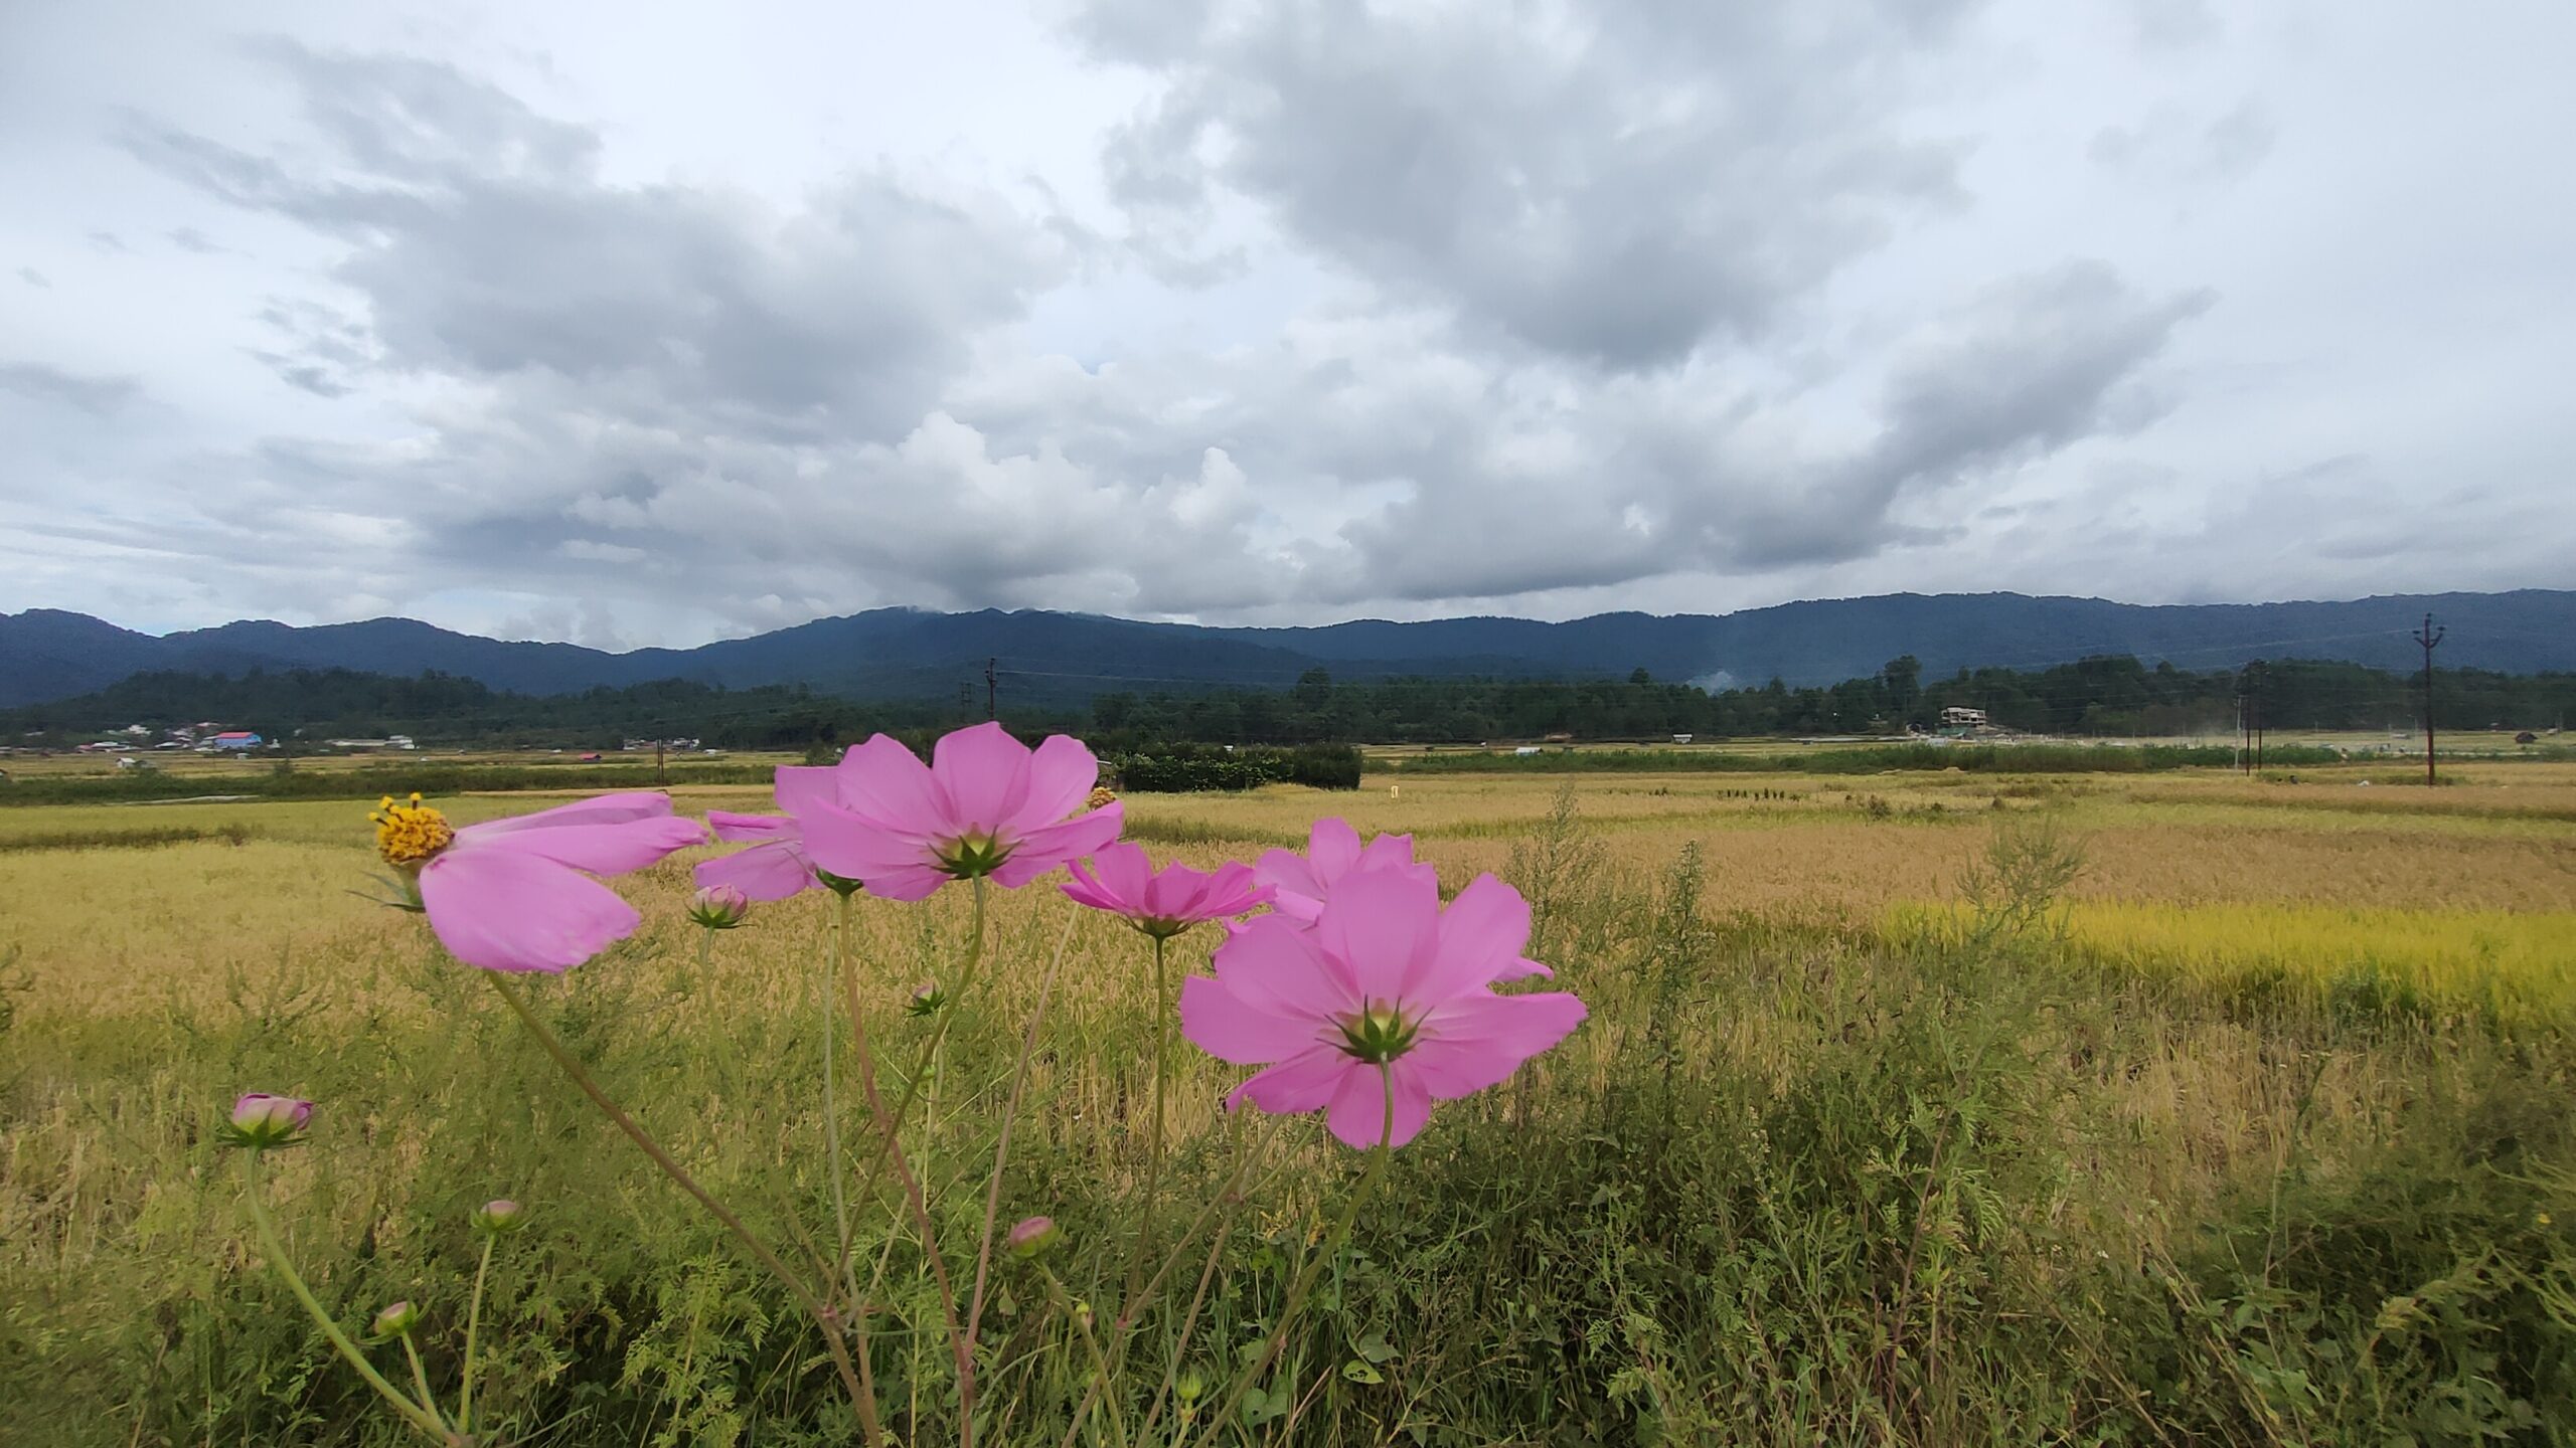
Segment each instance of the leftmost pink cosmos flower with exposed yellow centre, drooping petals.
M446 814L386 799L376 850L415 879L430 930L451 956L487 971L567 971L644 922L582 871L639 871L703 845L696 819L675 819L667 794L603 794L536 814L456 830Z

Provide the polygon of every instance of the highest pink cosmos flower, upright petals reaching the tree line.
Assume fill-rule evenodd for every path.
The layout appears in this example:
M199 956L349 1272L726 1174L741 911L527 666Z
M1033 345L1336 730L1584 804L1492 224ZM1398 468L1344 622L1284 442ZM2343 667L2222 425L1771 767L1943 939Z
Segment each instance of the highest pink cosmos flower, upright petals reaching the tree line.
M1100 781L1082 739L1030 750L999 724L943 737L925 765L876 734L840 765L778 770L778 804L804 830L806 858L868 894L925 899L953 879L1018 889L1118 837L1126 806L1074 814Z

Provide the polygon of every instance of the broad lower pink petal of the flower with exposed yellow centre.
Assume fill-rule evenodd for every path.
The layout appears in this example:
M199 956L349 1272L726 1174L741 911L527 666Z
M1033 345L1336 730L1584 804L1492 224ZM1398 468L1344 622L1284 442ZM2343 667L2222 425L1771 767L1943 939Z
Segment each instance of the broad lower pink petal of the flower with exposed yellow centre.
M451 956L487 971L567 971L644 922L618 894L520 850L443 850L420 904Z

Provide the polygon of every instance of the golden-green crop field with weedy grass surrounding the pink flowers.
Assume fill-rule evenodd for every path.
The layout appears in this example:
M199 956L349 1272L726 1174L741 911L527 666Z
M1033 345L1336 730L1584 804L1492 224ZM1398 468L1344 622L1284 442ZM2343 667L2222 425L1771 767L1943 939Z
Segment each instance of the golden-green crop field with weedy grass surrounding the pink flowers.
M1324 814L1406 832L1443 891L1497 873L1530 899L1530 953L1589 1020L1443 1103L1334 1242L1363 1154L1224 1113L1244 1069L1177 1041L1146 1141L1151 948L1061 876L994 891L989 976L925 1046L925 1214L966 1265L987 1190L1064 1247L992 1262L976 1443L2576 1440L2576 765L2450 760L2424 788L2406 760L1381 757L1355 794L1126 809L1128 840L1203 868ZM471 1206L531 1203L489 1268L482 1443L855 1440L796 1304L371 897L363 817L0 809L0 1443L404 1440L252 1239L211 1136L242 1090L319 1103L270 1201L345 1324L425 1306L433 1386L459 1376ZM644 928L531 995L672 1157L817 1252L848 1185L819 1149L835 899L703 935L690 866L719 850L616 879ZM969 910L855 902L889 1051ZM1216 940L1175 940L1175 969ZM938 1322L963 1286L884 1183L845 1211L886 1435L958 1440ZM1139 1299L1157 1214L1180 1270ZM1327 1286L1291 1314L1306 1262ZM1226 1402L1275 1327L1275 1373Z

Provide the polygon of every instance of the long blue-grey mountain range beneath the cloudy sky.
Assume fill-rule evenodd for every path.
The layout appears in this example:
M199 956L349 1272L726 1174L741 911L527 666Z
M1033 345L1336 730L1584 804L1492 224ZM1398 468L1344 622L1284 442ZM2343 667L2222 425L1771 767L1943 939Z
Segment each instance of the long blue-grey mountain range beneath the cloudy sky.
M2020 593L1891 593L1741 613L1530 618L1363 618L1316 629L1213 629L1092 613L876 608L696 649L605 652L482 639L412 618L289 626L242 621L139 634L88 613L0 613L0 709L106 688L152 670L438 670L518 693L621 688L665 678L747 688L801 683L850 698L951 698L981 688L987 660L1023 701L1113 691L1285 688L1311 667L1386 675L1628 675L1705 685L1837 683L1914 654L1924 675L2043 667L2136 654L2210 670L2257 657L2421 667L2424 613L2447 631L2442 667L2576 670L2576 590L2434 593L2342 603L2110 603Z

